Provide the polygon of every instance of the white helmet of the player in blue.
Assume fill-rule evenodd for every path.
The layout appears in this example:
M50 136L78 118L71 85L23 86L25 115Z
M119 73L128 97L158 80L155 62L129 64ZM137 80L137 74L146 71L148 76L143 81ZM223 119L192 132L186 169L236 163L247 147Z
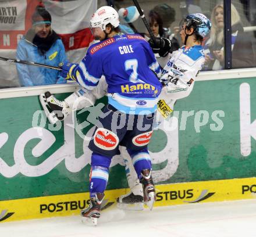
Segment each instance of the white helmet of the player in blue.
M111 23L113 27L119 26L118 12L111 6L102 6L91 17L90 27L101 27L102 30L106 30L106 25Z

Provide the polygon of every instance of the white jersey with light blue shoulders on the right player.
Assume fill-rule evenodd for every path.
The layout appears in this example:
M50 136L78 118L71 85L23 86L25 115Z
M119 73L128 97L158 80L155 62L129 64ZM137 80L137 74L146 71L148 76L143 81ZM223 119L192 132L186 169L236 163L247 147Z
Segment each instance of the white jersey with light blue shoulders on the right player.
M194 87L195 77L204 64L204 51L201 45L185 47L165 57L168 62L162 70L161 80L168 82L162 88L158 101L158 112L163 119L169 116L177 99L189 96ZM161 123L159 117L159 123Z

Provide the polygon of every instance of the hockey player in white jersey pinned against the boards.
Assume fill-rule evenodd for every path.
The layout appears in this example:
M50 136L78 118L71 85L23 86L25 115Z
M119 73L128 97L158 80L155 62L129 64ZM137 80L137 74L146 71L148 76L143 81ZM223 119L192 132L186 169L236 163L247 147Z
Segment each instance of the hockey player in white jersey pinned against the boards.
M191 14L184 19L180 25L180 36L184 46L179 50L169 53L171 48L169 39L157 38L155 42L150 42L154 53L159 53L166 59L166 66L162 70L161 81L165 82L159 96L157 123L161 124L163 120L170 117L173 106L177 99L182 99L190 95L194 81L198 72L204 64L204 52L201 46L203 38L209 33L211 23L204 15ZM49 92L47 92L49 93ZM42 94L41 101L47 101L52 110L61 110L60 116L52 118L49 116L49 110L42 103L45 112L51 123L56 123L58 119L65 117L72 111L74 101L79 99L80 103L75 109L81 109L94 104L95 100L106 95L106 82L101 78L99 85L93 91L88 93L85 89L79 89L60 102L51 94ZM46 98L45 98L46 97ZM47 99L48 98L48 99ZM53 103L51 103L53 101ZM59 106L58 109L56 106ZM55 113L52 113L53 115ZM126 152L126 148L120 147L120 152L125 160L126 176L130 187L130 192L118 198L118 206L123 209L143 209L143 191L138 181L132 160Z

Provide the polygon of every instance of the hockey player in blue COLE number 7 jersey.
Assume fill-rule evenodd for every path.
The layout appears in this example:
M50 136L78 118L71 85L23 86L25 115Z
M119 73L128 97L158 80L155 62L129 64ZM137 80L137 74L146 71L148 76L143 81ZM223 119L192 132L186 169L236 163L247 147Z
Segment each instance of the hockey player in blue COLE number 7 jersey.
M100 42L90 46L80 64L65 62L61 74L87 90L97 87L102 75L108 84L108 104L98 119L89 145L93 151L91 202L81 211L87 221L97 224L109 165L111 158L119 152L119 144L126 146L133 159L137 177L143 185L144 202L152 209L155 188L147 145L162 85L155 76L161 70L150 45L140 35L120 33L115 9L99 8L91 18L90 28Z

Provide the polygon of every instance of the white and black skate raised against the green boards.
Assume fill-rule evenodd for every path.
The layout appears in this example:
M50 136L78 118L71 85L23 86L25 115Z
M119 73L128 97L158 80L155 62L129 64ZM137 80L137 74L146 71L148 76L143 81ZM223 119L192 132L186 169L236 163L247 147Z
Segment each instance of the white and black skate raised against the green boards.
M64 120L70 113L66 103L56 99L49 91L40 95L40 102L51 124Z

